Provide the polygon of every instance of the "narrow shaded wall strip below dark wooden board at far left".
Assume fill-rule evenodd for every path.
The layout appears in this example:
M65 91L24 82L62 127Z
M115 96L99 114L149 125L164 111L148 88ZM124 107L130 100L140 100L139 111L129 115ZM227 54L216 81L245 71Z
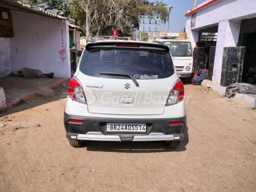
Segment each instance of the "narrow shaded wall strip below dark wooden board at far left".
M0 77L12 74L11 51L9 38L0 38Z

